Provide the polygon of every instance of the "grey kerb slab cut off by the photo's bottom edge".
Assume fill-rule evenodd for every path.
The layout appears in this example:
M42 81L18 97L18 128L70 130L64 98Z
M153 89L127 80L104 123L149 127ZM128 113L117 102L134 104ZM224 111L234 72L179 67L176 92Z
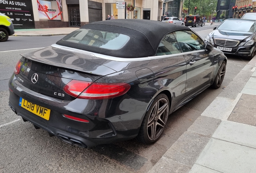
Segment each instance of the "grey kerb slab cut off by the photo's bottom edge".
M148 173L188 173L189 167L162 157Z

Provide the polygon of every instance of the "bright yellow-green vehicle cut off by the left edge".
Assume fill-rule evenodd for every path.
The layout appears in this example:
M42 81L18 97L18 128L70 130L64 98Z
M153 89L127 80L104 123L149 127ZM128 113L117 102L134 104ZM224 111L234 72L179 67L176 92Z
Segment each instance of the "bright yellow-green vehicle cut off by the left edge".
M0 42L8 40L8 37L12 34L14 34L12 20L0 13Z

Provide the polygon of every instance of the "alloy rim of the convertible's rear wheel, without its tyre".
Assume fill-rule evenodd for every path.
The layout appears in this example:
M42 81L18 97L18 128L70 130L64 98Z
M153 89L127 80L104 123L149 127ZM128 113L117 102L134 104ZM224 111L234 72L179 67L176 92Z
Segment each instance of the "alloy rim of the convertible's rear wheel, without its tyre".
M165 128L168 114L168 101L165 98L159 99L151 111L147 124L147 133L151 141L155 141L160 137Z

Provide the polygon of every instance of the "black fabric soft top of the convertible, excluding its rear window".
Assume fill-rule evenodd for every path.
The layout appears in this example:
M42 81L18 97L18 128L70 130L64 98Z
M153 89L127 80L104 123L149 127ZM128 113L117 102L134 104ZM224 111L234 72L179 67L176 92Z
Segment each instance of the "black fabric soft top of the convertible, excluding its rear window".
M118 50L108 50L85 44L73 43L65 41L65 37L70 37L69 34L56 44L87 50L99 54L105 54L115 57L136 58L155 56L159 43L163 36L177 30L190 30L186 26L177 24L169 24L154 20L142 19L116 19L93 22L82 26L80 29L95 29L117 32L130 37L127 44ZM77 31L74 31L77 32ZM70 34L74 34L74 32Z

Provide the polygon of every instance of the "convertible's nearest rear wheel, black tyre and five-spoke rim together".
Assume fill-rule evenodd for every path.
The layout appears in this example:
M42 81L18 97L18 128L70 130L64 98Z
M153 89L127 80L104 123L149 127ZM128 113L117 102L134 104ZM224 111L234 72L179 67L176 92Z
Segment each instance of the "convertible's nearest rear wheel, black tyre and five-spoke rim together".
M140 126L137 140L145 144L155 143L165 128L168 115L169 99L165 94L160 94L149 107Z

